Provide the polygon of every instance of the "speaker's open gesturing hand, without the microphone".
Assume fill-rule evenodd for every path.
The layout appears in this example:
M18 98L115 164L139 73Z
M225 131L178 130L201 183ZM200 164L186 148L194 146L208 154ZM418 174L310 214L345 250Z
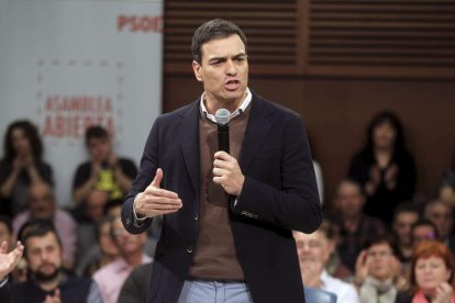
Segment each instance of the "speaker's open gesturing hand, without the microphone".
M158 168L152 183L134 199L137 217L154 217L175 213L181 209L181 200L176 192L159 188L162 179L163 170Z

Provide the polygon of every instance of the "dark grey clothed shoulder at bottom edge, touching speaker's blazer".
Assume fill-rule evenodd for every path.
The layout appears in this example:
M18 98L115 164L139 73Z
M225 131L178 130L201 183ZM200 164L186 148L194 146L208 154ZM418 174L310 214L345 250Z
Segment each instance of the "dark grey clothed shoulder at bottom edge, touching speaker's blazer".
M153 262L136 267L123 283L119 303L144 303L147 299L148 284L152 278Z

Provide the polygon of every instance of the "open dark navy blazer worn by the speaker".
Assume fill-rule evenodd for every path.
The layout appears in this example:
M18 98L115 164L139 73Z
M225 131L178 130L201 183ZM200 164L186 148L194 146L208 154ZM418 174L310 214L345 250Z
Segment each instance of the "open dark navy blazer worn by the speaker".
M252 93L238 160L245 182L230 212L235 249L255 303L301 303L291 231L311 233L322 220L308 138L297 113ZM199 114L197 100L157 117L123 204L125 228L144 232L152 220L136 226L133 201L157 168L164 172L162 188L177 192L184 204L164 217L147 302L177 302L192 261L199 216Z

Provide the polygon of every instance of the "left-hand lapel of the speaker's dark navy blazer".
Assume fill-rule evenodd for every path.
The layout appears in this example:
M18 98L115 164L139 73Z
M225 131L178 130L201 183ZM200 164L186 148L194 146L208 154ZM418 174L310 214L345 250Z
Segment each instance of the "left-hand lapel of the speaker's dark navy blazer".
M179 137L188 175L195 189L199 188L199 101L181 113Z

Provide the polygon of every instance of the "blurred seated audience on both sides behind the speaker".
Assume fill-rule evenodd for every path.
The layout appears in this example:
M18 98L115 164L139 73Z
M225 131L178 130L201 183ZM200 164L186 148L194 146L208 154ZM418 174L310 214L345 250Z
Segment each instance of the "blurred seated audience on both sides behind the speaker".
M364 147L333 197L323 197L324 165L314 161L324 222L313 234L295 233L304 285L346 303L454 302L454 168L441 171L434 195L423 199L400 119L379 112L365 130ZM144 302L163 218L147 234L126 233L120 212L136 164L115 154L102 126L88 127L85 144L88 158L74 171L73 201L59 203L54 171L65 168L44 160L32 122L9 125L0 160L0 242L25 246L10 280L43 289L74 277L89 281L81 289L87 302ZM46 252L46 240L58 254Z

